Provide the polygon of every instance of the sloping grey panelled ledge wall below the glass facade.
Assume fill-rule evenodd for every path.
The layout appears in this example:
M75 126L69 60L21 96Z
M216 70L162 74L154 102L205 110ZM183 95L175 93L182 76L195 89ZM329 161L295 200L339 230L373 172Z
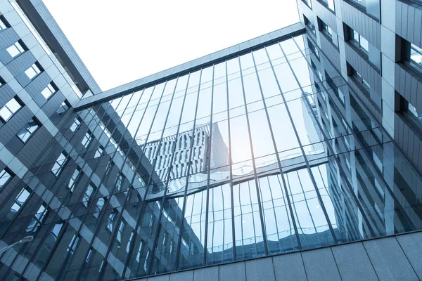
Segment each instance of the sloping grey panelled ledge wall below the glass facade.
M422 278L422 232L239 261L147 281L416 281Z

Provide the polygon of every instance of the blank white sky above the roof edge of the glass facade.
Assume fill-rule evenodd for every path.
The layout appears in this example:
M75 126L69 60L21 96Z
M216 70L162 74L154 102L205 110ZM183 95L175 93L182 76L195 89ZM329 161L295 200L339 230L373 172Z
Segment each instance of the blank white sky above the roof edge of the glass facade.
M295 0L43 0L103 91L298 22Z

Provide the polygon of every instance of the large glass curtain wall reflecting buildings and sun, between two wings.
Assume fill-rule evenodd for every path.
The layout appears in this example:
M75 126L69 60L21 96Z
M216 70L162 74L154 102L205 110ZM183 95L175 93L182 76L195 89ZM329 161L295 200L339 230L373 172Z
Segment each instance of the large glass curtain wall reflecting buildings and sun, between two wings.
M421 229L420 175L315 46L72 112L0 190L1 240L34 236L0 275L116 280Z

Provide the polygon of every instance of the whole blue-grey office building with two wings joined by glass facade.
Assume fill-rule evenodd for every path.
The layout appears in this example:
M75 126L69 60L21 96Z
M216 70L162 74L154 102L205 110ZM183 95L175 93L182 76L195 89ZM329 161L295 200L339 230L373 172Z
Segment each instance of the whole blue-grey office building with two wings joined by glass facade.
M101 91L0 0L1 280L422 279L422 4L298 11Z

